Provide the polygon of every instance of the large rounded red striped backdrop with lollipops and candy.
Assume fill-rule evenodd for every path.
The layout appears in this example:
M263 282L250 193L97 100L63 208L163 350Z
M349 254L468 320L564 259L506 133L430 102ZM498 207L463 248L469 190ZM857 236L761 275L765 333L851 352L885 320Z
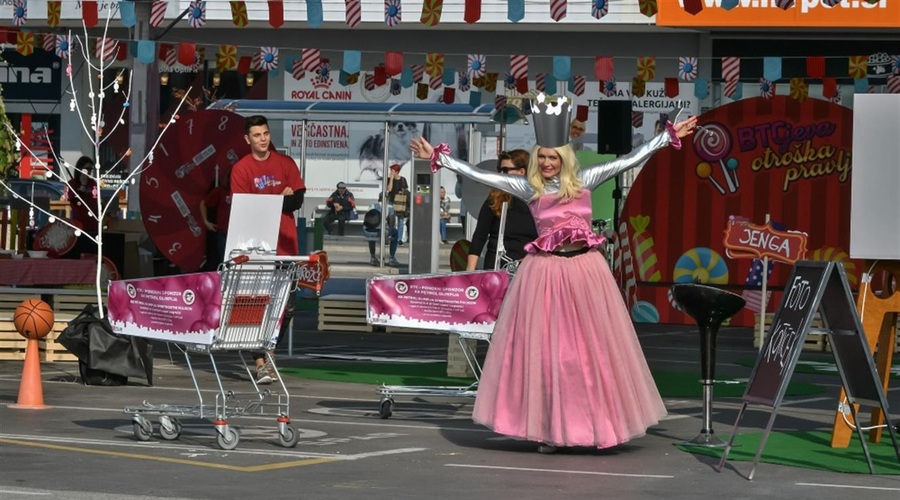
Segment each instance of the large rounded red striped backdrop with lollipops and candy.
M699 123L681 150L666 148L647 162L615 228L615 267L632 319L692 323L669 291L701 282L738 289L748 306L731 323L751 326L762 273L777 295L791 272L786 262L797 258L841 261L855 287L860 263L847 254L852 111L760 97L716 108ZM735 214L771 222L737 224ZM768 310L778 302L773 297Z

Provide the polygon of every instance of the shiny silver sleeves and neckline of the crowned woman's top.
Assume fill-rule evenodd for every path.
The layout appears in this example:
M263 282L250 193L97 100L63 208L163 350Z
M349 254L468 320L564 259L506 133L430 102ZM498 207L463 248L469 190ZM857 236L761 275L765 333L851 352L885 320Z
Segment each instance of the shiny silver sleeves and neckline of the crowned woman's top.
M653 153L668 146L670 143L671 136L669 135L669 132L664 131L633 149L627 155L606 163L583 167L580 170L583 188L593 190L600 184L603 184L620 173L642 164ZM437 162L444 168L490 187L506 191L526 202L534 198L535 190L531 184L528 183L526 176L488 172L443 153L438 154ZM553 194L558 190L559 178L556 177L546 184L544 192L541 194Z

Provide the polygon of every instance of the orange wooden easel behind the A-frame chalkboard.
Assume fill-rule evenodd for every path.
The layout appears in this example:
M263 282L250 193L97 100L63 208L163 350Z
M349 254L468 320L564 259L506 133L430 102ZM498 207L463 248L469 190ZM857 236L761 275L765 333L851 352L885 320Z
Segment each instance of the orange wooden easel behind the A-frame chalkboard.
M868 270L871 266L872 263L867 262L864 269ZM856 299L856 310L859 312L866 339L869 341L869 350L875 353L875 366L878 376L881 378L881 386L887 394L891 378L891 360L894 356L897 339L897 314L900 313L900 291L892 289L891 277L895 276L900 280L900 261L877 261L869 271L869 275L876 276L880 271L885 272L883 282L876 286L870 278L868 282L864 281L860 286ZM875 288L880 288L882 291L880 296L875 294ZM876 345L878 346L877 352L875 351ZM843 402L845 396L844 389L841 389L838 401ZM853 429L846 424L845 418L850 423L854 423L852 415L844 416L840 411L835 412L834 429L831 433L832 448L846 448L850 444ZM872 408L870 426L875 428L869 431L869 441L873 443L881 441L882 428L877 426L883 424L884 415L881 408Z

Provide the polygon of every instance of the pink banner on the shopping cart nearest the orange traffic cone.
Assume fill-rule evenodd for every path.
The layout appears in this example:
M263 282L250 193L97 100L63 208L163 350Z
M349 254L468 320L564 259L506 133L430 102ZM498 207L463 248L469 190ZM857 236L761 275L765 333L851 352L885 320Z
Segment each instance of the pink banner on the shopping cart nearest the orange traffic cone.
M113 281L109 286L109 322L123 335L211 344L221 311L215 272Z

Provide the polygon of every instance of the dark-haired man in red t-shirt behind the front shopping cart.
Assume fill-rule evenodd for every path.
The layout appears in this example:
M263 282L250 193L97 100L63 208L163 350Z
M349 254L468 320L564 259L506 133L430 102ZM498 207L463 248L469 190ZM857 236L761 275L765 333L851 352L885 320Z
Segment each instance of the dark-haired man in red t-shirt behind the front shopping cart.
M231 193L280 194L284 196L281 207L281 227L278 231L278 255L297 255L300 242L297 240L297 224L294 211L303 205L306 185L300 177L297 164L289 157L269 149L269 122L266 117L255 115L247 118L244 125L244 139L250 145L250 154L241 158L231 167ZM278 343L289 333L294 316L293 295L288 296L281 320ZM272 363L274 351L258 353L256 359L256 383L271 384L276 378Z

